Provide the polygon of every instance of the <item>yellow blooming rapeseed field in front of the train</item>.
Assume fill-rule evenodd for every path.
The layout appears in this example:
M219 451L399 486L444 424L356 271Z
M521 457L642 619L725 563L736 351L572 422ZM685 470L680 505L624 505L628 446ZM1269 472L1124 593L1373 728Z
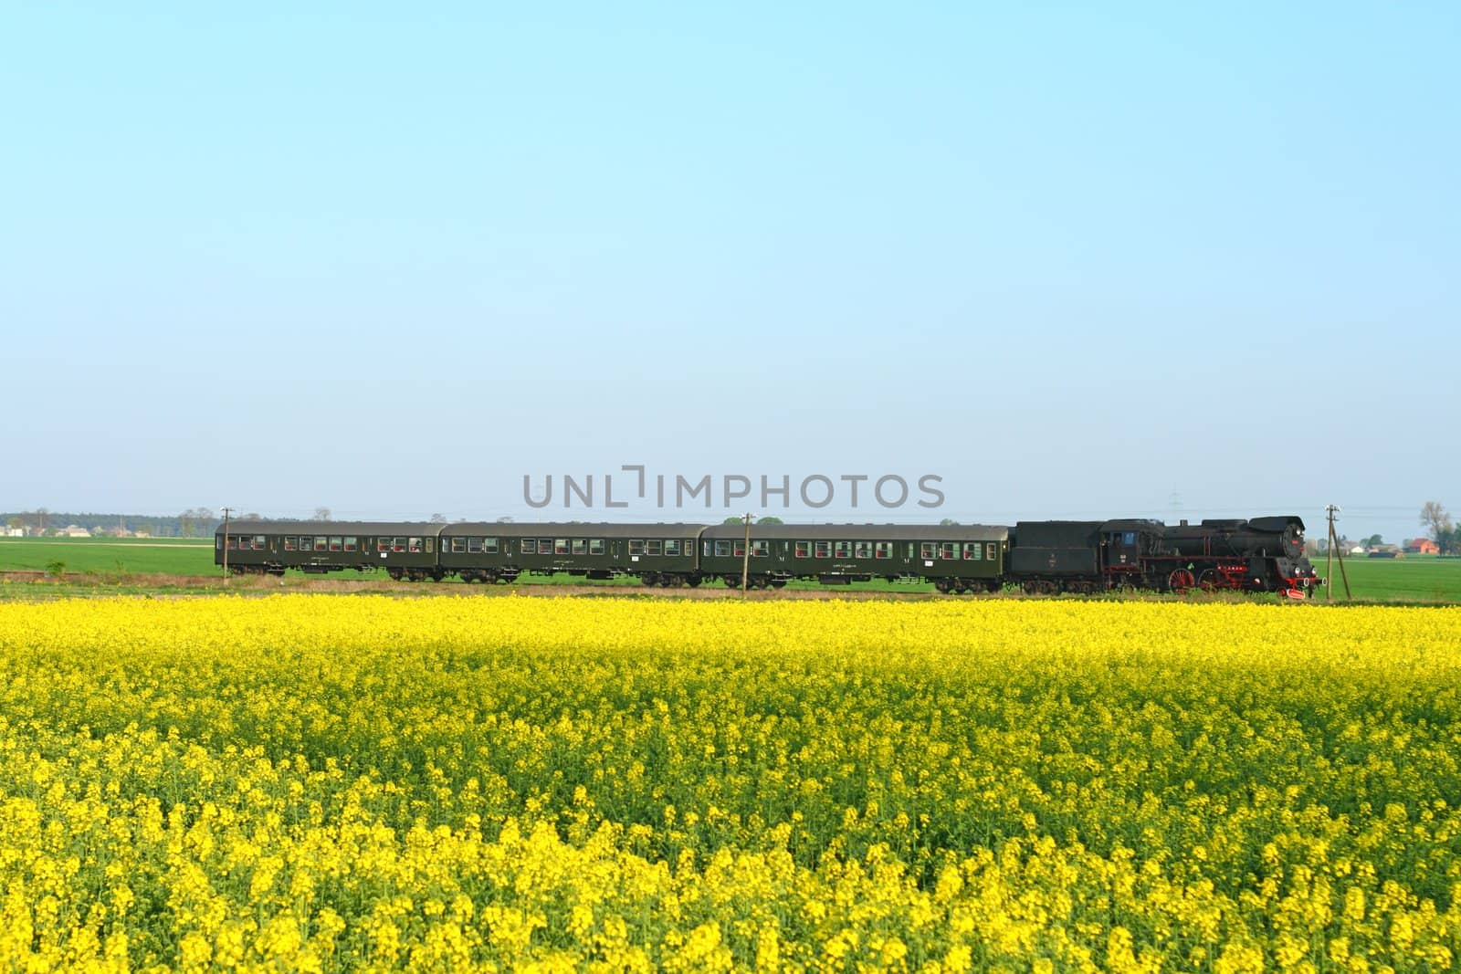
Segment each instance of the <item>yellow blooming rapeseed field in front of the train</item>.
M0 606L0 970L1449 971L1461 610Z

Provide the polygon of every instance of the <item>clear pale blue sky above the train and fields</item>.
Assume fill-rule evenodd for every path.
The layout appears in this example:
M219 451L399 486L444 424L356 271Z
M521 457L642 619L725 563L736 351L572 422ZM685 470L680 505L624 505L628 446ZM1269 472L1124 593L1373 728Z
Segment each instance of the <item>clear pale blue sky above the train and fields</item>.
M3 510L1461 508L1455 3L3 10Z

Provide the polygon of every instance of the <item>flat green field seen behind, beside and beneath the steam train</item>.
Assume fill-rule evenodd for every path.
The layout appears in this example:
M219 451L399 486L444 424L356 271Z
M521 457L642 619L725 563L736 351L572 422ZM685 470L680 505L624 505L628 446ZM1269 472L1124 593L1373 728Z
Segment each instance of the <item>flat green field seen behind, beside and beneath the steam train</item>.
M213 564L213 546L206 540L159 540L159 539L53 539L53 537L16 537L0 539L0 572L4 571L50 571L56 562L63 562L63 572L70 586L107 584L117 586L133 580L136 575L181 575L191 578L216 577L218 567ZM1324 575L1327 561L1319 558L1315 568ZM1356 602L1443 602L1461 603L1461 558L1410 556L1410 558L1347 558L1344 568L1349 574L1350 591ZM383 580L380 574L359 575L354 571L335 572L332 575L304 575L291 571L291 584L317 578L333 580ZM453 581L441 583L460 584ZM554 586L554 584L590 584L590 586L633 586L631 578L614 581L584 583L571 575L523 575L519 584ZM709 583L712 587L722 587L720 583ZM440 590L441 586L425 587ZM790 588L818 588L817 583L792 583ZM473 590L478 587L473 586ZM931 593L929 584L888 584L882 581L853 586L852 591L897 591L897 593ZM12 594L15 588L12 588ZM1344 600L1344 586L1340 580L1338 562L1334 568L1332 593L1321 591L1318 599L1334 602Z

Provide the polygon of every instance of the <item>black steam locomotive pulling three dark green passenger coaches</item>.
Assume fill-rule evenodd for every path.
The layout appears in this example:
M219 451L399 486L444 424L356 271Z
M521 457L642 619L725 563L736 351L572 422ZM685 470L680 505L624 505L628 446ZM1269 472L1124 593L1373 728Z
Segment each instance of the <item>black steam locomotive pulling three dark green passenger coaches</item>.
M747 546L749 545L749 553ZM1303 599L1322 584L1293 514L1233 520L995 524L606 524L275 521L219 526L232 574L384 571L409 581L568 574L644 586L782 588L932 583L948 594L1232 590Z

